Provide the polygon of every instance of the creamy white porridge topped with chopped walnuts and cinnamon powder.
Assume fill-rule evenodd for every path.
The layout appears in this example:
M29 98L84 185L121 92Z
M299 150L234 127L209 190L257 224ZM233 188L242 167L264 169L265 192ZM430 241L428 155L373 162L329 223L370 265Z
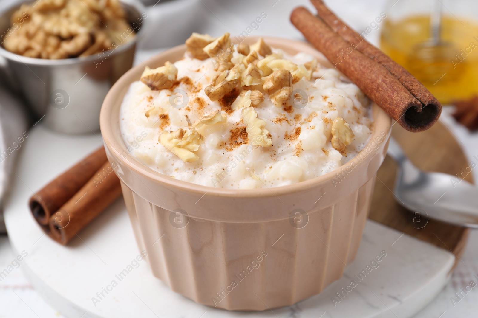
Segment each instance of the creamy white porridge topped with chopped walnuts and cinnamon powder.
M211 187L290 185L337 169L368 141L369 100L325 58L261 40L228 51L228 33L188 41L182 60L146 69L121 105L123 139L153 170Z

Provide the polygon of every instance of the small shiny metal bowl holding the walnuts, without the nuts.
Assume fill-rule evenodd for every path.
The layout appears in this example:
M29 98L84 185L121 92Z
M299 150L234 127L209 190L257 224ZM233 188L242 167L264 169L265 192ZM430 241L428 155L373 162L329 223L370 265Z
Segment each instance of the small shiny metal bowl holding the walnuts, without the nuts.
M0 43L2 34L15 31L9 30L10 17L21 2L25 1L16 1L0 12ZM122 5L136 37L116 49L83 58L46 60L14 54L0 45L11 86L25 97L38 118L44 116L49 128L61 133L99 130L103 99L114 82L131 68L136 43L148 17L140 1L128 2ZM21 27L18 24L16 29Z

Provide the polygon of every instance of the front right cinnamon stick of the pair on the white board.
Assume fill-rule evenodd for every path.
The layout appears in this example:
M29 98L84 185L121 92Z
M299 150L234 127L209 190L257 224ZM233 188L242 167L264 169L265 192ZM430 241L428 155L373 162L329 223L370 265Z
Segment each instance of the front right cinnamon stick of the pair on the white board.
M66 245L121 195L120 179L106 162L87 183L50 216L50 236Z

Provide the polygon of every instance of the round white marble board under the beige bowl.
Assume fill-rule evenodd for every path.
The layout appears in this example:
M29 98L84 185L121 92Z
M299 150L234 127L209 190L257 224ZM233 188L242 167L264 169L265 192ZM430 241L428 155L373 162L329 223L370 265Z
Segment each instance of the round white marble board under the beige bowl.
M28 211L27 200L52 175L101 144L99 133L60 135L39 123L22 145L17 176L5 205L12 249L15 255L28 254L21 268L33 287L66 318L405 318L428 304L450 277L455 263L452 253L368 221L358 256L348 264L344 277L320 295L291 307L246 313L198 305L153 277L145 261L94 304L92 298L98 299L97 293L140 254L122 198L66 247L43 235ZM362 281L354 278L381 251L387 256L379 267ZM331 298L350 285L351 279L357 287L334 304Z

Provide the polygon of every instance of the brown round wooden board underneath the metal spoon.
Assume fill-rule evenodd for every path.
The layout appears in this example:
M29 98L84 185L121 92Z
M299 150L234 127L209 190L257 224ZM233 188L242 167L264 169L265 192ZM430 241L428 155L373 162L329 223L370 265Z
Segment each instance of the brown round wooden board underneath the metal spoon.
M469 166L458 141L440 122L422 133L410 133L395 124L391 135L413 164L424 171L456 175ZM396 174L397 164L387 156L377 173L369 218L451 251L458 261L466 246L469 229L419 216L398 204L392 193ZM473 182L471 174L465 176L465 180Z

